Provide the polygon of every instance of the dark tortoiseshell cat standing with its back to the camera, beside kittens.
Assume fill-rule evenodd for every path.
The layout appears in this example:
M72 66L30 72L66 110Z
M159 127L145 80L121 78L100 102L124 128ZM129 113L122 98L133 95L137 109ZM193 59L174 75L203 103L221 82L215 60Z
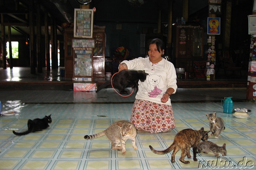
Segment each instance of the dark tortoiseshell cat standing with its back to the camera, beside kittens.
M149 145L149 148L152 152L163 155L166 153L172 152L172 163L175 162L175 154L177 151L181 149L181 156L180 156L180 162L183 162L184 164L189 164L189 161L184 160L185 156L187 155L188 158L191 158L189 149L193 148L193 160L197 161L196 159L196 151L197 151L197 145L199 144L200 140L206 141L208 139L208 134L210 131L204 131L204 128L202 127L200 130L196 131L193 129L183 129L182 131L179 131L173 140L172 145L170 145L167 149L164 151L156 151L151 145Z

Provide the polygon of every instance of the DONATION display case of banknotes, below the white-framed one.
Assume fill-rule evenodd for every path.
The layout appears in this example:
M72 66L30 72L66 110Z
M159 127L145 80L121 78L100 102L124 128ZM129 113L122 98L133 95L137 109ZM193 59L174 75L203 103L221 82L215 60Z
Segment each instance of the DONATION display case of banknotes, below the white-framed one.
M92 55L95 39L72 39L74 81L92 81Z

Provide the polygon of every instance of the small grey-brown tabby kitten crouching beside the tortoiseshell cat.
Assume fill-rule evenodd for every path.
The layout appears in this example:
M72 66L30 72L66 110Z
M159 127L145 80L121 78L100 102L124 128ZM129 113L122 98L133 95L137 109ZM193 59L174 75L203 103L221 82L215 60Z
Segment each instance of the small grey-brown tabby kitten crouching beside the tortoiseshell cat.
M218 146L211 141L200 142L197 145L197 153L200 153L200 152L204 152L206 154L208 152L212 152L216 157L219 156L219 153L222 156L226 156L227 155L226 144L223 144L222 146Z

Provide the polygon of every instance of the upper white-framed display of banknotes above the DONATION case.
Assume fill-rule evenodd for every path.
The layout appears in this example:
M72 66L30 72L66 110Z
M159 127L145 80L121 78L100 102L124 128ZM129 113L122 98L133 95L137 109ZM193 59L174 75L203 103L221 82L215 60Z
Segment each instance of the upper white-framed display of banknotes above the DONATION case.
M74 12L74 37L92 38L93 10L75 9Z

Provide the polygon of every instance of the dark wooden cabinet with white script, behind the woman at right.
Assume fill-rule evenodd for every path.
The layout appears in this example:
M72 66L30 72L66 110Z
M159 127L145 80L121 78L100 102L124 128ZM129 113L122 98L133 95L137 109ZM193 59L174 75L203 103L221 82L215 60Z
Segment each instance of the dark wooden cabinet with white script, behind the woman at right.
M177 25L176 68L186 68L188 63L203 60L203 35L200 25Z

